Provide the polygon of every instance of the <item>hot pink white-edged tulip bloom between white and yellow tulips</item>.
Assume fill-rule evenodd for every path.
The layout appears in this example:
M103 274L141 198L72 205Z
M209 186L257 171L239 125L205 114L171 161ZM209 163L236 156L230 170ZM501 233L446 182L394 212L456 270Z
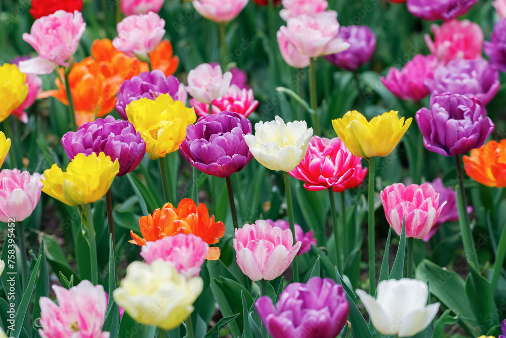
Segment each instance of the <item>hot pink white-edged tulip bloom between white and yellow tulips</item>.
M309 191L332 187L336 193L360 185L367 175L362 158L354 156L339 137L311 137L306 156L289 174L301 181Z

